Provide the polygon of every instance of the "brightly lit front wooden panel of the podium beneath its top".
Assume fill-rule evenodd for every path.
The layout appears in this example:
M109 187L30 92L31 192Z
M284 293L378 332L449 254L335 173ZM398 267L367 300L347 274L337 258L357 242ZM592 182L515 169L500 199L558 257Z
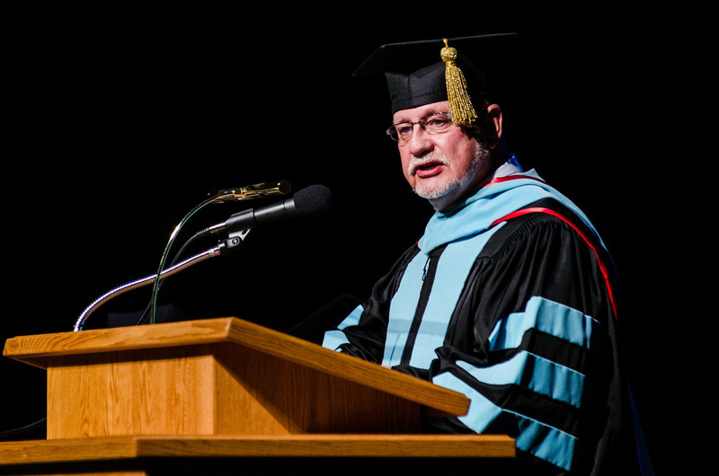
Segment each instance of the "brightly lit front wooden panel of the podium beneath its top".
M216 362L209 350L54 357L47 437L213 434Z

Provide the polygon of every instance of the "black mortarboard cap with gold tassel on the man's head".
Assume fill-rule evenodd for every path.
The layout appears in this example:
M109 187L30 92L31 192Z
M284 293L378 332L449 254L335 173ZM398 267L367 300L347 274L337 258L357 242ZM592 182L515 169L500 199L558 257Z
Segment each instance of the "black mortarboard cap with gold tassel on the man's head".
M450 96L455 90L448 84L448 76L452 74L460 75L451 82L465 88L467 101L482 101L488 94L484 66L491 69L492 66L486 63L502 55L515 36L515 33L496 33L389 43L377 48L354 75L384 74L393 113L431 102L453 102ZM447 57L440 56L445 54L446 47L455 49L450 54L456 54L456 57L452 57L450 63L445 61ZM450 70L453 73L448 73ZM471 102L468 107L471 109ZM454 110L453 114L457 116Z

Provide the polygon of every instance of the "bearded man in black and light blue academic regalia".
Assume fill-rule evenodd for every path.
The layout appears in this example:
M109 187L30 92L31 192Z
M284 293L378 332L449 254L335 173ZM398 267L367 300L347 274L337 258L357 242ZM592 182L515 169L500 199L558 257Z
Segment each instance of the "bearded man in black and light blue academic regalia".
M501 107L457 55L488 40L386 45L360 67L386 75L387 134L436 212L323 345L466 394L465 416L427 430L514 437L509 473L637 474L611 260L508 152Z

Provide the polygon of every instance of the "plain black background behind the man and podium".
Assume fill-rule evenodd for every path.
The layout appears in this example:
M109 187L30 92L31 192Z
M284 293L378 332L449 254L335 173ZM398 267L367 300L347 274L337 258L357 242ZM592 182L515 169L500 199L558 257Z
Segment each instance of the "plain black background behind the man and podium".
M3 339L71 331L96 297L155 272L208 192L264 181L324 184L333 210L254 230L242 251L170 278L162 300L283 329L342 294L365 297L431 208L384 136L385 90L352 71L387 42L515 31L510 149L587 212L614 255L655 468L698 467L715 336L701 186L715 56L701 12L454 5L443 21L343 8L19 14L4 61ZM183 230L265 203L206 207ZM148 296L120 296L89 323ZM44 417L44 374L6 358L0 372L0 430Z

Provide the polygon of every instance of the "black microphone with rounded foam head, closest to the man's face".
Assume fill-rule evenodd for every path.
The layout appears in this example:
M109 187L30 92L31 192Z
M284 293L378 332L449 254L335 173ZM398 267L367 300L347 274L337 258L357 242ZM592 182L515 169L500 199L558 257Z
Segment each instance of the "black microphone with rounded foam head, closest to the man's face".
M265 207L249 208L235 213L224 223L210 226L209 233L246 230L295 216L319 216L327 213L332 205L332 192L324 185L312 185L299 190L292 198L286 198Z

